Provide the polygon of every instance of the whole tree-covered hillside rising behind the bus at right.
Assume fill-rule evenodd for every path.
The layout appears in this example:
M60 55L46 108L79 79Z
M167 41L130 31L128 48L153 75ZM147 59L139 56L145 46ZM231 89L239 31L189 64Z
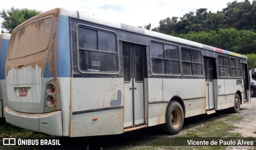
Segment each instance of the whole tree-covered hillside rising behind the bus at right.
M229 2L215 13L199 8L159 24L152 30L240 54L256 52L256 0Z

